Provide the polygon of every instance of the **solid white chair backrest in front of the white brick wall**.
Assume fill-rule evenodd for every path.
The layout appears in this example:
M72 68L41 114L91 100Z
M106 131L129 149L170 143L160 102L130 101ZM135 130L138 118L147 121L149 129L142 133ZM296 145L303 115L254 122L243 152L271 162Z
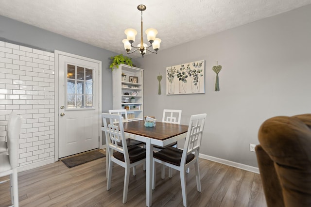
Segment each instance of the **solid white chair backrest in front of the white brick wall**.
M21 127L20 116L18 116L16 112L12 111L9 117L6 134L9 159L12 169L17 167L17 148L18 148L20 127Z

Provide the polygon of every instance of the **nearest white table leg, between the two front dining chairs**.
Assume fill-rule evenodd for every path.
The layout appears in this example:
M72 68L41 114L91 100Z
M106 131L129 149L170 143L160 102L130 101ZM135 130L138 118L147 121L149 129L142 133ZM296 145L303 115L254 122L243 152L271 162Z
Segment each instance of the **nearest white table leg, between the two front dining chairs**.
M152 159L154 146L150 139L146 140L146 206L151 207L152 203Z

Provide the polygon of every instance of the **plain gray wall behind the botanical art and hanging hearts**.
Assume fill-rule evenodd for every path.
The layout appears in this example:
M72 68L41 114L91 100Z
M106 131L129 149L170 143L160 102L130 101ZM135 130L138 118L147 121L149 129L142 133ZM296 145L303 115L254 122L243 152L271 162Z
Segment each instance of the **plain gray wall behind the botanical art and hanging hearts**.
M133 60L144 69L144 115L161 119L163 109L181 109L187 124L191 114L207 113L200 152L257 167L249 144L259 143L261 123L311 111L310 19L311 5ZM205 94L165 95L166 67L199 60L206 61Z

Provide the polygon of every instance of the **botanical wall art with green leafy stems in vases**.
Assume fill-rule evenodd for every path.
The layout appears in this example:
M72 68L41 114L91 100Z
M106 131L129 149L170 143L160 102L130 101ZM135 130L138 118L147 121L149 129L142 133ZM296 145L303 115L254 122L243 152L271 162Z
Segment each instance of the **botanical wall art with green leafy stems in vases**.
M166 95L204 93L204 60L174 65L166 68Z

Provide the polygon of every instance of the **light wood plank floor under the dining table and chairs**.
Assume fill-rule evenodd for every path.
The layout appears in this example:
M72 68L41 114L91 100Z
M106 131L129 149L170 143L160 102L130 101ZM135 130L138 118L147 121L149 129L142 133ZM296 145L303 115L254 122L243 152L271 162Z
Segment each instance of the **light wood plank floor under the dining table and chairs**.
M113 168L111 189L106 190L106 158L68 168L58 161L18 173L21 207L145 207L145 172L131 172L127 203L122 204L124 169ZM161 179L156 165L153 207L182 207L179 173ZM266 207L260 176L238 168L200 159L202 192L196 190L194 168L187 175L188 205L192 207ZM9 183L0 185L0 207L10 205Z

